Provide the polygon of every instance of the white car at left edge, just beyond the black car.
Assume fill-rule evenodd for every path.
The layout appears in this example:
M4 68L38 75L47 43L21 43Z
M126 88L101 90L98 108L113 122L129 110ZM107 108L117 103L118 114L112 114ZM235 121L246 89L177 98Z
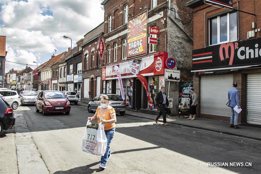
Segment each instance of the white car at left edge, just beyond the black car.
M0 90L0 94L3 95L3 98L10 104L10 106L12 106L14 110L21 105L20 97L16 91Z

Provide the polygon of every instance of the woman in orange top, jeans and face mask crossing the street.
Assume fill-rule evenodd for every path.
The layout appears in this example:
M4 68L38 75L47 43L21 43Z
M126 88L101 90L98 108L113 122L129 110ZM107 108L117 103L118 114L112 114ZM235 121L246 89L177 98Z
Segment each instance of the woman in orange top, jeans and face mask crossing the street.
M115 133L116 114L113 107L109 106L109 103L110 103L110 99L108 98L108 96L107 95L102 96L101 106L98 106L93 117L88 117L88 120L95 121L96 119L98 119L98 124L100 122L104 124L104 131L107 138L107 148L104 155L101 158L101 164L99 165L99 168L102 169L106 168L106 162L109 160L111 156L110 143ZM103 119L100 120L99 116L102 117Z

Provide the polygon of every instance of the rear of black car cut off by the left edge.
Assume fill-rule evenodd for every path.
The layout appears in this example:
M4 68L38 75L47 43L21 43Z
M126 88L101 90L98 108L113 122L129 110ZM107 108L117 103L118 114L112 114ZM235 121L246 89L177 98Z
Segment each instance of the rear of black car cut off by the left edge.
M13 108L0 95L0 135L2 135L3 130L11 129L14 126L14 122Z

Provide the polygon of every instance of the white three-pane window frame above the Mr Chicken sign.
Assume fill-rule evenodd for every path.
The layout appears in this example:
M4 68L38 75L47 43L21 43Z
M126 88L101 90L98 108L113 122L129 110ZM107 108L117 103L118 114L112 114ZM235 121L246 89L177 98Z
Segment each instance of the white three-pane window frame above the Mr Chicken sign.
M234 12L231 12L231 13L234 13ZM236 14L237 14L237 16L238 16L238 13L237 12L235 12ZM233 40L233 41L230 41L230 21L229 21L229 14L230 13L227 13L226 14L226 19L227 19L227 40L226 41L223 41L223 42L220 42L220 16L223 16L223 14L222 15L219 15L219 16L217 16L217 17L213 17L213 18L211 18L211 19L214 19L214 18L217 18L217 26L218 26L218 43L217 44L212 44L211 45L211 40L210 40L210 21L211 21L211 19L209 19L209 46L213 46L213 45L219 45L219 44L224 44L224 43L228 43L228 42L234 42L234 41L237 41L238 39L236 39L236 40ZM237 19L238 20L238 19ZM237 29L238 29L238 21L237 21ZM238 31L237 31L237 38L238 38Z

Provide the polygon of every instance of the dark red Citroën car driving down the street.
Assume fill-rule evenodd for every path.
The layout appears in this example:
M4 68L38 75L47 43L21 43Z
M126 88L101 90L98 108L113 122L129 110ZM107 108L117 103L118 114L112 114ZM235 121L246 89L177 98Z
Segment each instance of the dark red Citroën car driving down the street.
M61 91L46 90L41 91L35 101L35 110L47 113L62 113L70 114L71 105L68 98Z

